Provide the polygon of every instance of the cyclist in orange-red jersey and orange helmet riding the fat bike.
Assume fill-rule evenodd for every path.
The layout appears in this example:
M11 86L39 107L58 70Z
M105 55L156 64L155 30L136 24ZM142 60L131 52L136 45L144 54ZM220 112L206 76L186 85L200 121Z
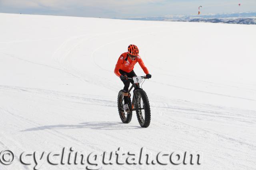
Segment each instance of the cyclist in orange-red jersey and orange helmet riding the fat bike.
M118 58L116 63L116 67L114 73L120 77L122 82L124 83L124 110L129 111L128 106L128 88L130 86L130 82L128 78L132 78L136 76L133 68L134 65L138 62L140 67L143 69L146 74L146 78L151 78L151 74L149 74L148 69L144 65L141 57L138 55L139 49L136 45L129 45L128 52L122 53Z

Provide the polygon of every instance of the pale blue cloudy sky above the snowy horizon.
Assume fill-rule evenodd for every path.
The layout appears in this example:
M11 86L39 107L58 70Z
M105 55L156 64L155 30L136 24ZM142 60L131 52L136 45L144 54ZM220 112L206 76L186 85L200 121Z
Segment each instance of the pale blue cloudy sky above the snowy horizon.
M201 14L256 11L256 0L0 0L0 12L129 18L197 14L200 5Z

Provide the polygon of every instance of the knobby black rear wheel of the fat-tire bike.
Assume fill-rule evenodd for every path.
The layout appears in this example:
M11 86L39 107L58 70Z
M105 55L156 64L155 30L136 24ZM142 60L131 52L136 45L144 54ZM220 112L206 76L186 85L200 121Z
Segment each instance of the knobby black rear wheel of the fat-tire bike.
M128 106L129 106L130 112L126 113L123 108L123 106L124 106L124 103L122 103L123 98L124 98L123 90L120 90L118 93L118 97L117 97L117 106L118 106L119 116L123 123L130 123L130 121L132 120L132 111L131 111L132 110L132 106L131 106L132 102L131 102L131 99L129 98Z

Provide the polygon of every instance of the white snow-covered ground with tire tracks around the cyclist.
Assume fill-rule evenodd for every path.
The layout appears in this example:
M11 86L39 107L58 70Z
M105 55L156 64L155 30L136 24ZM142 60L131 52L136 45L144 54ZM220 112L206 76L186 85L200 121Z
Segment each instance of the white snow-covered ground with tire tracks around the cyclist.
M33 169L25 151L142 147L201 151L200 165L102 165L101 169L255 169L256 25L0 14L0 151ZM151 123L120 121L116 61L136 44L152 74ZM144 75L139 65L137 75ZM40 170L85 169L51 165Z

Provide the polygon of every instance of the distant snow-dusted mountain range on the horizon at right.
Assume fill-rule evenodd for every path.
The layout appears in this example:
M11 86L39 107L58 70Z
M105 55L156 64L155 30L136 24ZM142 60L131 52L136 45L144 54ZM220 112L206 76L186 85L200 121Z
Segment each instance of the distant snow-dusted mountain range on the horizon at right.
M256 24L256 12L243 12L232 14L205 14L190 16L156 16L121 18L125 20L149 20L149 21L185 21L185 22L212 22L212 23L238 23Z

